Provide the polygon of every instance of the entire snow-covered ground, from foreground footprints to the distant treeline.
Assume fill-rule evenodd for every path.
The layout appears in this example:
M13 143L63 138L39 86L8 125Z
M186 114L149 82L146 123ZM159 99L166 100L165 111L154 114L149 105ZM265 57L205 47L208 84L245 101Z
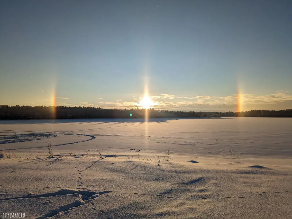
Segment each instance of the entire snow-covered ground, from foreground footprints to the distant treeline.
M0 218L290 218L291 134L291 118L0 121L22 157L0 159Z

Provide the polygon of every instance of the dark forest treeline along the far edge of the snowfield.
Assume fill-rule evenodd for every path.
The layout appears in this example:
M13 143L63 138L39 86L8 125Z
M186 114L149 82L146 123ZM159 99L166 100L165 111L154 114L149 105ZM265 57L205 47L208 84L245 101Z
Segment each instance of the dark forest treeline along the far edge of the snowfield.
M292 109L251 110L247 112L195 112L148 109L150 118L186 117L292 117ZM145 109L103 109L100 107L47 107L0 105L0 119L90 119L144 118Z

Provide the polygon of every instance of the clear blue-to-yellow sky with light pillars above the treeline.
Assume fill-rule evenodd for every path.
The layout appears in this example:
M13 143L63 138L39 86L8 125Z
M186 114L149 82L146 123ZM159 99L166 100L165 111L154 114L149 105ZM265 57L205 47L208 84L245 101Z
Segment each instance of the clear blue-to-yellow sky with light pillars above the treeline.
M0 0L0 105L292 108L292 1Z

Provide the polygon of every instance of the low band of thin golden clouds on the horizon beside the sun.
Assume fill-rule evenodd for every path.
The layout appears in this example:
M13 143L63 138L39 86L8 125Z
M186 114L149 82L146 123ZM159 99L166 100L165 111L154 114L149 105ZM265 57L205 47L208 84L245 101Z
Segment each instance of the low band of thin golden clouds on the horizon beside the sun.
M235 111L239 99L241 100L244 110L251 109L286 109L292 108L292 95L282 91L282 93L274 93L268 95L257 95L256 93L246 93L229 95L229 96L209 96L209 95L197 95L181 97L170 94L158 94L152 96L156 105L151 106L155 109L167 109L167 110L195 110L195 111ZM136 102L125 101L123 99L116 100L115 102L95 101L90 102L78 102L78 104L72 103L60 103L58 105L80 105L80 106L92 106L102 108L136 108L140 107L137 98L133 98Z

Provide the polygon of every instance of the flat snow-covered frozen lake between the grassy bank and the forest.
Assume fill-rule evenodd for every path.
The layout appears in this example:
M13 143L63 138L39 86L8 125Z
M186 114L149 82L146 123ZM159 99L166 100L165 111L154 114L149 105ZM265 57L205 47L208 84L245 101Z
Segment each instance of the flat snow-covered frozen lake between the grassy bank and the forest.
M0 150L16 154L40 153L52 142L64 154L292 157L292 118L2 120L0 135Z

